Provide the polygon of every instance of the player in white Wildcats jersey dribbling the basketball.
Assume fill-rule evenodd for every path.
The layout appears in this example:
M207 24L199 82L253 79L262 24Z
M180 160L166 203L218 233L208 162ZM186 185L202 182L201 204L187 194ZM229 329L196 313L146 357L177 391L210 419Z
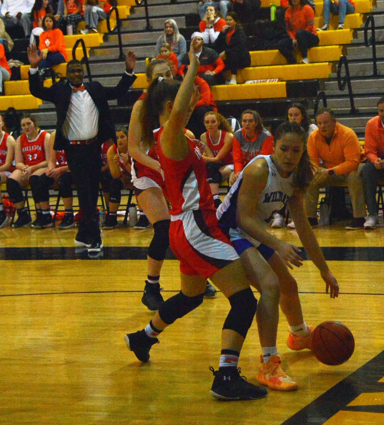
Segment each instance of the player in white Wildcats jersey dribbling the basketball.
M296 123L281 124L275 133L272 155L252 159L218 208L221 229L240 255L247 276L261 294L257 323L262 348L257 379L275 390L298 388L281 369L276 348L278 307L287 317L292 350L312 348L312 327L303 318L295 279L289 273L292 265L300 267L300 250L267 232L275 212L288 205L294 217L299 238L330 289L338 296L338 284L321 253L315 234L304 211L303 196L313 178L306 146L307 134Z

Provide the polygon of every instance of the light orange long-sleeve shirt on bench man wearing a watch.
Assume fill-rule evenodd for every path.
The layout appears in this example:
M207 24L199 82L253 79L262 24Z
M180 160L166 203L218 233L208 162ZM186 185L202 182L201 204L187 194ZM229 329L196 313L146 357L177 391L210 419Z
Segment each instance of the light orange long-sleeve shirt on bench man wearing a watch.
M320 130L314 130L308 137L308 155L312 164L333 168L336 176L357 170L360 164L360 144L355 132L336 122L331 143L328 145Z

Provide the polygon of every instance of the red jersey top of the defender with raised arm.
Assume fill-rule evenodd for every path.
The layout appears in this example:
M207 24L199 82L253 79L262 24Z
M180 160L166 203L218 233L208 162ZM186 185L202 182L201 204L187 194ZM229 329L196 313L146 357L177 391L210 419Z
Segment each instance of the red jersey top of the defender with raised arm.
M186 137L189 153L181 161L164 156L160 146L163 127L154 131L156 151L164 173L172 215L190 210L215 210L212 193L207 183L206 166L196 141Z

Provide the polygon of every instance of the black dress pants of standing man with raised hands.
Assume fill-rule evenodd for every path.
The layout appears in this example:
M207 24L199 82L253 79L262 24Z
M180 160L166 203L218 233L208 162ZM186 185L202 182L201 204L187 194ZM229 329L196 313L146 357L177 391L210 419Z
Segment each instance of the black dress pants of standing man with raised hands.
M97 142L69 144L64 150L83 214L77 236L81 241L92 244L100 239L97 199L102 166L101 145Z

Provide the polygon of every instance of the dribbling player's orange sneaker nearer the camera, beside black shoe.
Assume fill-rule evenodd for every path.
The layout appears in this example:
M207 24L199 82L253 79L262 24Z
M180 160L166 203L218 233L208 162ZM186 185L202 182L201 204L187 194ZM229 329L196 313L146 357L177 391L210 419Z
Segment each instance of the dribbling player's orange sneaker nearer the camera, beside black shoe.
M264 363L261 355L261 366L256 379L263 385L267 385L272 390L294 391L297 390L297 382L292 380L281 368L279 356L273 355L267 363Z

